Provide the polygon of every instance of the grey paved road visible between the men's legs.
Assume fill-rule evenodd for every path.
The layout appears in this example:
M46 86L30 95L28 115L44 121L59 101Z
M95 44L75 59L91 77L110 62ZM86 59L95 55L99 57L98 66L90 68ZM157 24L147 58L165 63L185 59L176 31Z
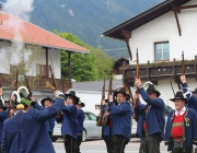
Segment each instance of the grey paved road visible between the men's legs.
M57 142L54 142L56 153L65 153L63 142L61 139L58 139ZM131 139L127 144L125 153L139 153L139 139ZM82 142L81 144L82 153L106 153L105 143L103 140L91 140ZM161 142L161 153L166 153L164 143Z

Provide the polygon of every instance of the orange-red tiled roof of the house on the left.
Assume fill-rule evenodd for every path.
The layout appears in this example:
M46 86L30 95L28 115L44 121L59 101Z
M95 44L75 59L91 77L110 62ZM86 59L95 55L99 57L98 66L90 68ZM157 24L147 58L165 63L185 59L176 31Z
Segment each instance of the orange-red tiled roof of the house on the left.
M48 32L37 25L34 25L27 21L24 21L22 19L19 20L19 17L13 14L1 11L0 21L0 39L8 42L12 42L13 39L22 39L24 44L32 44L70 52L91 54L89 49L68 39L65 39L51 32ZM19 24L20 26L18 28L14 28L13 23ZM16 37L18 35L20 35L21 38Z

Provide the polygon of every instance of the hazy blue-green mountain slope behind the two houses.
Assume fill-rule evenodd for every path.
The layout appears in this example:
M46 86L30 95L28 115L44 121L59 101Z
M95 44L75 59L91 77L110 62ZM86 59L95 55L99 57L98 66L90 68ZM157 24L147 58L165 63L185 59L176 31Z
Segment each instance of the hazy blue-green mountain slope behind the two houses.
M84 43L103 47L107 51L112 48L126 48L126 45L124 42L102 38L103 32L161 1L163 0L34 0L31 22L48 31L73 33ZM128 56L127 49L107 52L116 58Z

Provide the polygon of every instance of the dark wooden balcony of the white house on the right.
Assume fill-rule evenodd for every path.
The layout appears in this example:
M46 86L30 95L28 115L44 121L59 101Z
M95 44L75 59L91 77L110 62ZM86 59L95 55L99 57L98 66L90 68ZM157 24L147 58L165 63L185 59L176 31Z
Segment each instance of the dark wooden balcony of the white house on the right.
M186 60L185 62L185 75L187 78L195 78L197 81L197 59ZM182 75L182 61L171 62L155 62L155 63L143 63L139 66L140 79L142 81L151 81L158 84L159 80L173 79L176 83L179 82ZM134 86L136 78L136 64L129 64L123 72L124 82Z

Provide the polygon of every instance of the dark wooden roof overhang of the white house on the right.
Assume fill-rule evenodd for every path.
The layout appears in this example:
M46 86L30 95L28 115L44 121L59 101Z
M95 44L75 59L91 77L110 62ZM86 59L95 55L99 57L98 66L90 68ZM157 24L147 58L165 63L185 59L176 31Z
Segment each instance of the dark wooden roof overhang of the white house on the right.
M131 32L146 23L172 11L172 4L182 5L190 0L165 0L162 3L136 15L135 17L127 20L126 22L106 31L102 36L115 38L119 40L125 40L125 36L123 35L123 30L127 32Z

